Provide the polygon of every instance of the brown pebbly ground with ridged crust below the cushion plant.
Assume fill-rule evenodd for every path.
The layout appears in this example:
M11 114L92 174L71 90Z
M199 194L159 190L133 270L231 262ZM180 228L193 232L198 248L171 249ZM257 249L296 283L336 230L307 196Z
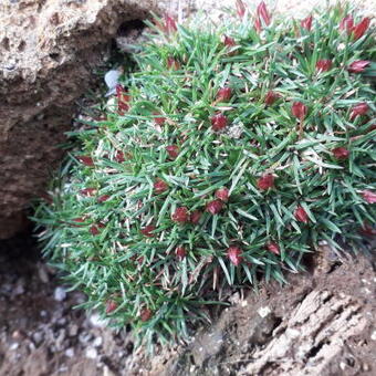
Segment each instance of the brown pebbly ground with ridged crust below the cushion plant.
M376 374L376 272L369 255L328 261L323 253L311 272L290 275L285 286L261 285L243 299L238 292L232 306L189 345L152 359L133 351L126 331L115 333L95 313L74 310L84 296L65 296L62 288L30 236L0 243L0 375ZM318 322L314 331L310 321ZM333 325L338 325L334 334ZM296 327L286 346L283 341Z

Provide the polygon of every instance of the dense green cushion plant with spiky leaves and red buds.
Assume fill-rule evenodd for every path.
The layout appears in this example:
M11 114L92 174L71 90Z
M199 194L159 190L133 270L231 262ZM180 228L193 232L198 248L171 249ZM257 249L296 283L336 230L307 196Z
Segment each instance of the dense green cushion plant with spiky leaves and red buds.
M224 288L282 282L318 242L374 231L369 20L238 1L223 22L149 24L35 215L84 305L147 343L187 337Z

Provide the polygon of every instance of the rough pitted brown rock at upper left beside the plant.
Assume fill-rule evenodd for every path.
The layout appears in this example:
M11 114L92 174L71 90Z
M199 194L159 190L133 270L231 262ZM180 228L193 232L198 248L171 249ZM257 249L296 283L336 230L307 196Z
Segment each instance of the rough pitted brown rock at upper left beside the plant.
M158 0L0 3L0 239L20 229L62 156L75 101L95 82L121 24L167 9Z

